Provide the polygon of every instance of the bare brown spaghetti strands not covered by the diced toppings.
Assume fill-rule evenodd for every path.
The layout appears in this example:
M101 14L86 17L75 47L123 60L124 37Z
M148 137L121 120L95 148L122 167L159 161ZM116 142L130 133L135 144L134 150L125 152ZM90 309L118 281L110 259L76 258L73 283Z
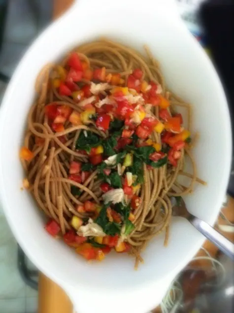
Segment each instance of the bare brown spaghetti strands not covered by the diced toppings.
M169 110L174 111L176 106L183 106L188 110L190 128L190 105L167 91L159 63L147 47L145 47L145 50L146 57L132 48L107 39L82 44L74 49L79 53L81 60L90 63L93 68L105 66L107 73L118 72L125 81L134 68L141 68L145 80L152 80L162 86L162 94L170 102ZM66 60L67 57L60 64L64 65ZM71 228L69 220L72 215L81 218L89 215L88 213L78 213L76 211L77 204L83 204L88 199L100 203L101 196L97 171L93 172L83 184L67 179L67 169L71 160L87 162L87 156L75 151L75 142L80 135L81 129L90 130L103 137L105 134L95 128L94 125L73 126L67 124L66 130L63 132L54 133L52 131L44 115L44 106L46 104L56 101L58 104L65 104L72 109L81 111L77 107L77 102L67 96L59 95L54 88L50 87L56 66L55 64L46 65L36 80L35 89L38 96L30 110L25 135L25 146L33 151L34 158L31 162L23 161L23 166L30 182L30 190L39 208L48 217L55 219L61 225L62 233L65 234L66 230ZM153 110L155 110L153 113L158 117L158 108L153 108ZM65 136L67 142L62 143L60 136ZM151 137L160 143L161 139L158 133L154 132ZM35 138L40 138L43 144L38 147L35 144ZM184 172L185 157L188 157L192 163L192 174ZM196 164L189 149L183 151L176 168L167 165L152 170L147 170L146 164L143 165L144 183L138 191L141 204L135 212L135 229L127 237L127 241L132 245L131 253L135 255L136 267L138 262L143 262L140 252L155 235L165 231L165 245L167 245L169 223L172 215L169 197L190 193L196 181L205 184L196 177ZM181 175L191 179L188 187L178 183L177 179ZM83 193L80 196L72 195L71 186L80 188Z

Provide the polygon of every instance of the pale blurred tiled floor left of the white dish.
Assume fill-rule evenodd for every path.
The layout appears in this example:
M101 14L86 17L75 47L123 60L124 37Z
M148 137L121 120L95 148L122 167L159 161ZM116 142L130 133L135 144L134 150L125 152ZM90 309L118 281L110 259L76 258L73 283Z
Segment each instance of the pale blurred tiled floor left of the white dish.
M0 71L11 76L27 46L45 27L52 0L8 0ZM36 10L33 10L33 7ZM0 81L0 102L6 84ZM27 286L17 268L17 242L0 205L0 313L35 313L37 291Z

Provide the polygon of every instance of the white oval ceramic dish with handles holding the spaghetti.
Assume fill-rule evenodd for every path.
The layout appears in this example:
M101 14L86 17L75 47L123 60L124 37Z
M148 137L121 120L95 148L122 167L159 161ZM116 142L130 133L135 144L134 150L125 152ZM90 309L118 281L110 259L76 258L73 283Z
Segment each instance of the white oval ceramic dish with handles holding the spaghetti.
M33 199L20 190L24 173L18 152L37 73L74 45L99 35L136 49L148 44L170 89L193 104L193 130L201 133L194 155L199 176L208 186L197 186L186 203L201 219L215 221L230 172L229 111L211 62L180 21L172 0L79 0L35 40L17 67L0 109L1 201L21 247L67 291L79 313L144 313L161 301L171 280L204 240L189 222L173 219L167 249L163 236L152 240L138 271L125 255L113 254L89 264L44 231Z

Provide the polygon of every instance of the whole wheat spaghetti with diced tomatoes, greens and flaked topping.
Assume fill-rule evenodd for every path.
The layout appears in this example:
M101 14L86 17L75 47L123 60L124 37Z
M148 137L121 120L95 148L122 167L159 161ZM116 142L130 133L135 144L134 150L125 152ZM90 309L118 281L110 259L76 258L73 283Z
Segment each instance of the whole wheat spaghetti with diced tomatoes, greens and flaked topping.
M46 230L86 259L128 251L135 267L155 235L165 231L167 245L170 198L204 184L191 152L191 107L167 91L145 51L100 39L46 65L20 151ZM188 111L188 129L177 106Z

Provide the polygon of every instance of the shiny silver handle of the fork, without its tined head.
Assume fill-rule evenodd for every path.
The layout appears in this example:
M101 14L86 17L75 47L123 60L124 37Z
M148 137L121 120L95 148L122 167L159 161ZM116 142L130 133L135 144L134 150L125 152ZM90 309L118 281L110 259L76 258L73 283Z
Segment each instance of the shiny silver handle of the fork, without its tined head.
M205 221L190 214L188 220L204 235L210 242L223 251L234 261L234 244L220 234L216 229L210 226Z

